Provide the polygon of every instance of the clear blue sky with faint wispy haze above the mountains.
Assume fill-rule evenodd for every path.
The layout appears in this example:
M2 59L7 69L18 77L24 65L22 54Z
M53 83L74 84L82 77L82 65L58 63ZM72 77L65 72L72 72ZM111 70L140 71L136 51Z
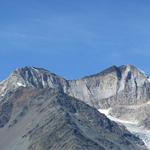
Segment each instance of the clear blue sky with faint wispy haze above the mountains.
M1 80L21 66L74 79L149 63L149 0L0 1Z

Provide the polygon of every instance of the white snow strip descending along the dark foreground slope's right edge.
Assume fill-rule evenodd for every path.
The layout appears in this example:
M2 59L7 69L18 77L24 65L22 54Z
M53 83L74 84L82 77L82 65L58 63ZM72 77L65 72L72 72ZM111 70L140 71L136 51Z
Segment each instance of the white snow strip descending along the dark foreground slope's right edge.
M149 102L150 103L150 102ZM100 113L105 114L110 120L124 125L131 133L143 140L148 149L150 149L150 130L138 126L138 121L128 121L115 118L109 115L111 109L99 109Z

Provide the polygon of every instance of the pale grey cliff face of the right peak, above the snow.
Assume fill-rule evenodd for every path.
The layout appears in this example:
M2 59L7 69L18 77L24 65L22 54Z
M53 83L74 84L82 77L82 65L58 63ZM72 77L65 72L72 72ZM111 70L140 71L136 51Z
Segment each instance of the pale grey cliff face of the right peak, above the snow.
M150 98L148 77L132 65L70 81L68 93L96 108L141 104Z

